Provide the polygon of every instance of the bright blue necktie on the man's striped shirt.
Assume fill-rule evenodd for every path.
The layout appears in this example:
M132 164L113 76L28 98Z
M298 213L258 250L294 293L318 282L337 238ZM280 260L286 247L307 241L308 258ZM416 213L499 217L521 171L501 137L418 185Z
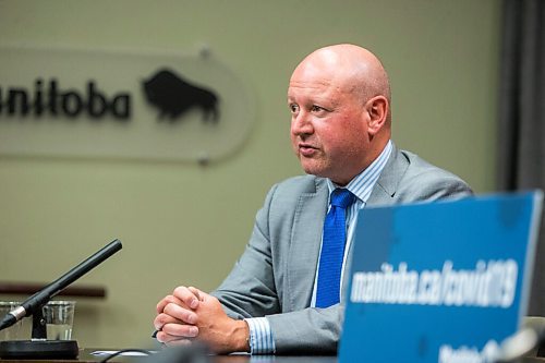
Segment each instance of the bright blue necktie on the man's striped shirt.
M322 237L316 307L328 307L340 301L340 276L347 242L347 207L354 198L354 194L347 189L336 189L331 193L331 206L324 221Z

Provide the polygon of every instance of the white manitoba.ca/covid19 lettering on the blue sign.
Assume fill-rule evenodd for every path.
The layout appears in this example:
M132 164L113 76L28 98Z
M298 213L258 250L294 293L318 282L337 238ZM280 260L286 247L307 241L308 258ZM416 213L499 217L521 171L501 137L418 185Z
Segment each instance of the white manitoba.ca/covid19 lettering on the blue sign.
M445 306L511 306L517 291L518 265L513 259L477 261L473 269L455 269L446 261L441 270L398 269L384 263L379 271L354 273L350 300L354 303L386 303Z

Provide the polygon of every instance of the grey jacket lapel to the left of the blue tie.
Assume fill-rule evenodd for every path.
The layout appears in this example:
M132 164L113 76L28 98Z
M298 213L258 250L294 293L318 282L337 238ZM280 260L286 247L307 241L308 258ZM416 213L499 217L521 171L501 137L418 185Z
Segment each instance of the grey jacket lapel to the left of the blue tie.
M295 209L287 265L290 310L311 303L328 194L325 180L316 179L316 191L302 194Z

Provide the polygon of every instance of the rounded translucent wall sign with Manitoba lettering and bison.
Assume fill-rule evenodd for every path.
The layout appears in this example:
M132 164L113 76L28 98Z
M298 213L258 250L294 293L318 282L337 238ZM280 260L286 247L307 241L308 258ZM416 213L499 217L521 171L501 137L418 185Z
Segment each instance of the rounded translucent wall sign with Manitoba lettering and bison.
M0 47L0 155L217 160L254 101L209 51Z

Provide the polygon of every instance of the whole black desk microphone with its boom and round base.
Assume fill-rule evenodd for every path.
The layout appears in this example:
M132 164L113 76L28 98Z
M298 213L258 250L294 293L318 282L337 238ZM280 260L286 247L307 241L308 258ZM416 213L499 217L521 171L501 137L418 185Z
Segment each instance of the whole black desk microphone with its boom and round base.
M70 283L101 264L122 249L121 241L114 240L70 271L26 299L20 306L0 320L0 330L5 329L25 316L33 316L31 340L0 341L1 359L75 359L80 353L75 340L47 340L46 320L43 307Z

